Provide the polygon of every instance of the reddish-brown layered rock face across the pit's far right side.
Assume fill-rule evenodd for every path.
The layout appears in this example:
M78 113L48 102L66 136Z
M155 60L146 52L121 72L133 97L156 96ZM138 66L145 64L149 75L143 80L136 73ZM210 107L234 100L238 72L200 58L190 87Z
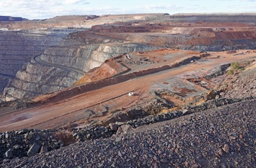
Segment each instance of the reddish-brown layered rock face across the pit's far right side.
M137 23L93 26L92 29L107 37L182 50L256 48L256 28L242 23Z

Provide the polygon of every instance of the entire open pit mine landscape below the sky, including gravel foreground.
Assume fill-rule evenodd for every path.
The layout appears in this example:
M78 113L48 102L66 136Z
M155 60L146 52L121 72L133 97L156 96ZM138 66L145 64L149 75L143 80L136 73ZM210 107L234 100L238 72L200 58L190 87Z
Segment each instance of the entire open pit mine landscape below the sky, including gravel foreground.
M104 143L114 167L255 167L255 17L0 16L0 164L62 167L84 143L65 165L98 167Z

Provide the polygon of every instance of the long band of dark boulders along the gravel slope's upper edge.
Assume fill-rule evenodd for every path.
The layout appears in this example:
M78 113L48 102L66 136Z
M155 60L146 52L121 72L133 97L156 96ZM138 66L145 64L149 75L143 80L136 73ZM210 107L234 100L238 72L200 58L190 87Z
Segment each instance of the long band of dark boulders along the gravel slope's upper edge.
M16 157L34 156L37 153L45 153L50 150L59 149L70 143L96 140L99 138L108 138L113 134L127 131L129 128L138 128L151 123L168 121L183 115L189 115L194 112L208 110L219 107L224 104L233 104L241 100L232 99L214 99L195 107L187 106L184 110L175 110L173 112L160 113L157 115L148 115L143 118L134 119L126 122L110 123L109 126L89 126L80 129L56 129L56 130L34 130L22 129L19 131L9 131L0 133L0 160L15 159Z

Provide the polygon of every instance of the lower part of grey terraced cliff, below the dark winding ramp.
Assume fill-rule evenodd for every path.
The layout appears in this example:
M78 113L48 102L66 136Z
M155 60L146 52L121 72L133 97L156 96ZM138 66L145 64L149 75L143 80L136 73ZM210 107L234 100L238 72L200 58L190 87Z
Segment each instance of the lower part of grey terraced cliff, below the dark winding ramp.
M15 79L10 80L10 83L4 88L3 96L5 101L8 102L42 93L59 91L62 88L69 87L80 77L82 75L77 72L70 72L67 69L59 69L53 66L43 66L31 61L17 73Z

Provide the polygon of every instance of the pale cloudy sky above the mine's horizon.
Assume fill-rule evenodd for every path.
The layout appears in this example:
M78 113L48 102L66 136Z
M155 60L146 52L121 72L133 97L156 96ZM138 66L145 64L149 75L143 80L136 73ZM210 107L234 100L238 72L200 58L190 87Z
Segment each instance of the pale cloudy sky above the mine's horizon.
M256 0L0 0L0 15L29 19L155 12L256 12Z

